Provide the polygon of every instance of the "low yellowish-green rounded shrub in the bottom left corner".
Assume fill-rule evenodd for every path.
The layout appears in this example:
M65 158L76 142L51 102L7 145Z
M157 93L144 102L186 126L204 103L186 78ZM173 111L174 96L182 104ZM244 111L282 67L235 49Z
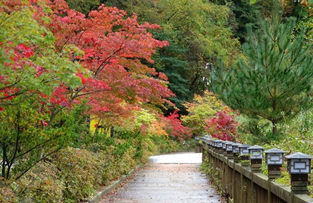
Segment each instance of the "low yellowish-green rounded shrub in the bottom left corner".
M64 184L50 161L37 164L18 181L2 181L1 203L61 203Z

